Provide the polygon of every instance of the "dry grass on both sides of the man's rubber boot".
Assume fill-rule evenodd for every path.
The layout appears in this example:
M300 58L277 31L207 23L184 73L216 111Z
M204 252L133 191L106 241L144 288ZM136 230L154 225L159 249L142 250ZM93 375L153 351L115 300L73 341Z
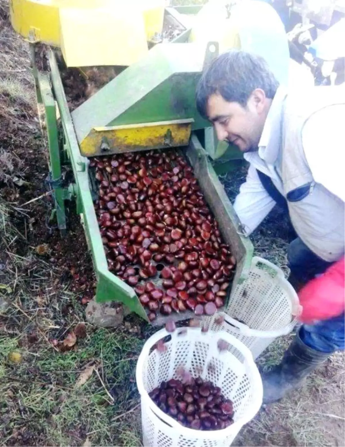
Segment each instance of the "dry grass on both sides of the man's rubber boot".
M279 363L294 334L280 337L257 359L266 370ZM303 386L268 405L241 430L234 447L341 447L345 374L344 353L333 354Z

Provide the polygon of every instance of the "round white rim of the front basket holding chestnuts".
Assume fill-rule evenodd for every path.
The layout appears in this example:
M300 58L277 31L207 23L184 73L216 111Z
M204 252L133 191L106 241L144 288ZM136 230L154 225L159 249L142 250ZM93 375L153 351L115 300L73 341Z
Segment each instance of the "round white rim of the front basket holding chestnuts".
M175 428L176 430L179 430L179 434L186 435L189 437L194 437L197 439L222 439L224 436L230 435L234 428L240 429L242 426L247 424L247 422L251 421L251 419L256 415L256 413L259 411L262 400L263 400L263 385L261 376L259 373L259 370L256 366L256 363L254 361L253 355L251 354L251 351L247 346L245 346L242 342L240 342L236 337L233 335L226 333L225 331L220 332L207 332L203 333L200 328L186 328L187 332L184 334L184 337L190 336L193 334L193 337L214 337L214 335L217 335L217 337L222 338L226 340L226 342L230 343L232 346L234 346L236 349L238 349L244 356L245 362L247 363L248 372L250 374L251 380L253 383L253 389L255 390L254 399L252 404L250 405L248 412L246 413L245 417L242 417L238 421L235 421L230 426L221 429L221 430L207 430L207 431L201 431L201 430L195 430L192 428L188 428L180 424L178 421L176 421L173 417L170 415L164 413L158 405L156 405L151 397L149 396L149 393L146 391L143 380L142 380L142 371L143 366L146 358L149 355L149 350L152 348L152 346L158 342L158 340L166 337L177 337L177 334L175 333L169 333L166 331L166 329L161 329L158 332L154 333L149 339L145 342L141 353L139 355L138 361L136 363L136 386L139 390L141 400L145 401L145 405L149 407L153 413L155 413L165 424L169 425L171 428Z

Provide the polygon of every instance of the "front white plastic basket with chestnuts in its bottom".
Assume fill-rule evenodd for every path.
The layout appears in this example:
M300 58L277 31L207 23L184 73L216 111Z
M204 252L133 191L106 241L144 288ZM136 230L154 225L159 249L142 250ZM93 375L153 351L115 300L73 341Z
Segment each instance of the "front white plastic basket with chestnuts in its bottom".
M188 328L169 334L165 329L145 343L136 365L136 384L141 395L141 420L144 447L229 447L241 427L259 411L262 382L251 352L226 332L203 333ZM163 337L167 350L152 350ZM224 339L229 349L219 352L217 342ZM209 368L212 364L212 368ZM162 381L177 378L176 368L189 370L193 377L210 380L221 388L234 404L234 423L223 430L201 431L182 426L164 413L149 397L149 392Z

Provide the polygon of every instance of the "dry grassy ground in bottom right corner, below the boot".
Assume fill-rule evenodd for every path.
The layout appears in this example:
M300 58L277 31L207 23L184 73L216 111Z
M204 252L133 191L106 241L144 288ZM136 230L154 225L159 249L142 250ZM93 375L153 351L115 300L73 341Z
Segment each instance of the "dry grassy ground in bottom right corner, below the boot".
M336 354L328 367L339 371L340 359L343 361L344 356ZM338 403L344 396L344 377L329 379L320 370L315 371L301 389L261 411L239 435L243 443L238 445L250 446L249 440L255 439L259 446L343 446L344 420L334 413L343 416Z

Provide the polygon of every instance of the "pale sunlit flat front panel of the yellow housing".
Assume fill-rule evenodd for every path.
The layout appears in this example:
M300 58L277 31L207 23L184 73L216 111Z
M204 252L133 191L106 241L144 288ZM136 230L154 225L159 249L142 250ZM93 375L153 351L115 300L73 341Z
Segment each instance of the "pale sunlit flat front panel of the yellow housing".
M60 8L61 50L68 67L131 65L148 52L140 10Z

